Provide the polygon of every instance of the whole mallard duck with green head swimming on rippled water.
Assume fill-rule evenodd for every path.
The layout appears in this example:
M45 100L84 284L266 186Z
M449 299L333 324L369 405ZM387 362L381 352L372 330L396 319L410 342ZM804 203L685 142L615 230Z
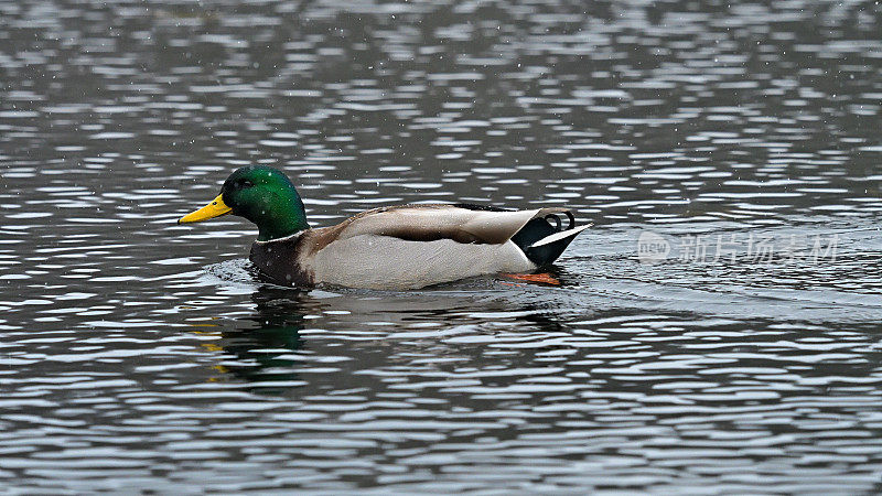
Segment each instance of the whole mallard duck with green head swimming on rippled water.
M310 228L291 180L260 165L233 172L216 198L178 223L230 213L257 225L249 259L262 274L298 287L404 290L481 274L531 272L555 261L591 226L576 227L566 208L445 204L375 208L336 226Z

